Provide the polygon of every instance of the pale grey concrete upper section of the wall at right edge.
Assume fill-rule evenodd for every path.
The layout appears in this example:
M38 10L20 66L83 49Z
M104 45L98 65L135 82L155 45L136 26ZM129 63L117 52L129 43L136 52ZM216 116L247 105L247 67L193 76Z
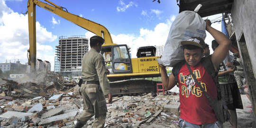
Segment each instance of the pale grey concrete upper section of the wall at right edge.
M256 0L234 0L231 17L237 40L244 33L252 69L256 74Z

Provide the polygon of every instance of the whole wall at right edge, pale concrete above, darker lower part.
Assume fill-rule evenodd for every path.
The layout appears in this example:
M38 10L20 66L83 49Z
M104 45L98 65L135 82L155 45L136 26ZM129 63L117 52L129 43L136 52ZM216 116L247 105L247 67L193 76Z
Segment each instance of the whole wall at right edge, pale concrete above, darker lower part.
M231 17L256 120L256 0L234 0ZM256 121L253 128L256 128Z

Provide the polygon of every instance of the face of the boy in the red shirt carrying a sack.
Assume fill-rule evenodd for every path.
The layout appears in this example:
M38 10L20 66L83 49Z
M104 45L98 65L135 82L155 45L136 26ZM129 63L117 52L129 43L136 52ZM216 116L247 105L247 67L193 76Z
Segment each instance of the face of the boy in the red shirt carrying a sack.
M192 50L184 49L185 60L190 66L195 66L201 61L201 54L200 48Z

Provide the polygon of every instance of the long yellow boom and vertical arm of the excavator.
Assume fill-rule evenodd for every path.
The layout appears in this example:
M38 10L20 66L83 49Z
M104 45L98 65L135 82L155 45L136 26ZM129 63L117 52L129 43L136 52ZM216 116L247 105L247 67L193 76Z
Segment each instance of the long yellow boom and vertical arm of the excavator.
M62 7L55 5L49 0L45 0L48 3L54 5L49 5L40 0L28 0L27 1L27 12L28 12L28 30L29 30L29 59L28 64L31 62L32 70L35 69L36 65L36 5L46 9L68 21L98 35L105 39L105 44L113 44L110 32L108 29L101 24L95 23L89 19L85 19L65 11Z

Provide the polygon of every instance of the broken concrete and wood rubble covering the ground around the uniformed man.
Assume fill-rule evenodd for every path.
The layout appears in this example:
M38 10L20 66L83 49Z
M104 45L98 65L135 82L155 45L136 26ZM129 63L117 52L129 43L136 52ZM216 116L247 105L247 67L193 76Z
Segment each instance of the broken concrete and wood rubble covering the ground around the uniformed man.
M3 128L72 128L83 112L75 82L54 73L44 81L19 83L2 79L0 126ZM76 86L74 86L74 85ZM4 90L2 88L4 87ZM107 100L107 99L106 99ZM155 93L114 97L107 104L105 128L178 128L179 96ZM94 117L84 126L92 128Z

